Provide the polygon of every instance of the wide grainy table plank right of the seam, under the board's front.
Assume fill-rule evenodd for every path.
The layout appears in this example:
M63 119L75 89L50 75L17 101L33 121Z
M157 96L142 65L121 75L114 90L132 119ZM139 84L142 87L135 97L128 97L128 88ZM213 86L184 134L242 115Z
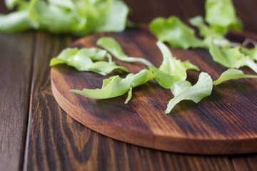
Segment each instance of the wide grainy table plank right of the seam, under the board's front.
M24 170L233 170L226 156L181 155L130 145L67 115L51 92L46 63L72 41L69 36L36 35Z

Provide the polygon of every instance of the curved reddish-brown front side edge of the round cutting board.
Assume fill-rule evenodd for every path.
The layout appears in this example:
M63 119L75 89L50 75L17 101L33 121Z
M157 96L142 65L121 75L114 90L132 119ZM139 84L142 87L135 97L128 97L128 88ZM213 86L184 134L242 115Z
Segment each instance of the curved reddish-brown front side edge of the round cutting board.
M85 125L87 128L96 131L97 133L101 133L102 135L106 135L110 138L121 140L123 142L128 142L133 145L169 152L181 152L198 155L234 155L257 152L257 146L253 148L253 144L257 144L257 138L243 138L238 140L210 140L199 138L179 138L175 136L170 138L163 135L156 136L150 133L138 132L138 130L121 128L120 126L108 123L94 117L90 113L84 113L84 111L82 111L80 108L77 108L75 105L66 100L66 98L61 95L59 90L57 90L54 84L52 79L52 75L55 72L54 70L54 68L51 68L51 88L57 103L59 103L61 108L67 114L69 114L71 118L74 118L74 120ZM238 147L241 147L241 149L238 149Z

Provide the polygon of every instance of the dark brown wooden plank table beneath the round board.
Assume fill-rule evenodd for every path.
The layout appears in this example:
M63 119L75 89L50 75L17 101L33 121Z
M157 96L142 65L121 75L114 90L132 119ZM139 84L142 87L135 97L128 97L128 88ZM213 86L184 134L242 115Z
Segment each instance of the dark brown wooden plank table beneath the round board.
M133 21L204 15L204 1L126 0ZM257 33L257 1L234 0L244 30ZM0 12L6 13L4 2ZM0 170L257 170L257 154L186 155L100 135L67 115L51 92L49 61L78 37L0 33Z

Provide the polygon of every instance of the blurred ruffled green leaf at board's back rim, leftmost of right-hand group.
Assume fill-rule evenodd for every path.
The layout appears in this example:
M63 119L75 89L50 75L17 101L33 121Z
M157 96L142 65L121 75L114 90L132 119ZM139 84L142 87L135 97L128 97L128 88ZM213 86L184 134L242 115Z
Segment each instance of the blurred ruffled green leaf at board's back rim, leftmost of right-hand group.
M153 19L149 29L159 41L167 42L173 48L207 48L206 44L196 37L193 28L183 24L176 16Z

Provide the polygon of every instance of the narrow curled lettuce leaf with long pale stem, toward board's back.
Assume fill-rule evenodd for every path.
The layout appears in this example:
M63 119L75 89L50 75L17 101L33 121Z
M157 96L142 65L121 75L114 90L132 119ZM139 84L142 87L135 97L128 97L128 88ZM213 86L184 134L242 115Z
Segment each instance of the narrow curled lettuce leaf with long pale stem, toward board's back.
M114 38L111 37L101 37L96 42L96 45L101 46L102 48L106 49L111 53L115 58L119 59L119 61L124 62L141 62L145 64L146 66L152 65L149 61L147 61L144 58L135 58L135 57L129 57L124 52L123 48L119 44L118 41L116 41Z

